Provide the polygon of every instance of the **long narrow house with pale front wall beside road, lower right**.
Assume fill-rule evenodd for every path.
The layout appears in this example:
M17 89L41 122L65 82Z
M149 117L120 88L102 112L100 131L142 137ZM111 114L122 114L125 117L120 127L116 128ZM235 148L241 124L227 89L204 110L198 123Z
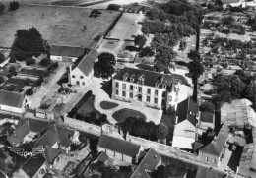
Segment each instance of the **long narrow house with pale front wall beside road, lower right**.
M223 124L217 137L208 145L199 149L198 159L209 165L219 166L224 157L224 151L227 148L230 129Z

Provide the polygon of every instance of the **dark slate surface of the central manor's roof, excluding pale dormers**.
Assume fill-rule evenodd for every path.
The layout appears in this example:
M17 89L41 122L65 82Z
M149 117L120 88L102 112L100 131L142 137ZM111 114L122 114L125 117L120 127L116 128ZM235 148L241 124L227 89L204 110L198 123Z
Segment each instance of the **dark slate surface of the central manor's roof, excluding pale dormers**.
M159 84L160 84L159 88L161 88L162 84L165 82L167 82L167 86L171 86L172 82L174 82L174 80L177 80L174 78L174 76L169 75L169 74L160 74L160 73L154 72L154 71L147 71L147 70L142 70L142 69L127 68L127 67L120 70L120 72L117 73L113 77L113 79L123 81L123 76L126 73L128 74L127 81L129 81L129 82L130 82L130 78L133 75L135 75L135 79L134 79L133 83L137 83L140 76L144 75L145 76L144 85L150 86L150 87L155 87L155 84L157 82L159 82Z

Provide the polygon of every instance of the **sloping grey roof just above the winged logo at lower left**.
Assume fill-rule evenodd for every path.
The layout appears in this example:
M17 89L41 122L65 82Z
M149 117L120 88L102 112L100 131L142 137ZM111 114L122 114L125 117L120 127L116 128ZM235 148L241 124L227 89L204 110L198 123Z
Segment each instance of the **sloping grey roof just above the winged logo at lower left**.
M26 122L21 127L15 130L15 132L7 138L7 141L12 145L16 146L21 143L25 136L30 133L29 123Z

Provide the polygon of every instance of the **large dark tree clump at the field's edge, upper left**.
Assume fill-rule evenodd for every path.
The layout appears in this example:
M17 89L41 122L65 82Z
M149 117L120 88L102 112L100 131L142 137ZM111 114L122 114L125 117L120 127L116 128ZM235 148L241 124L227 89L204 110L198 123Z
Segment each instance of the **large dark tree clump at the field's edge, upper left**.
M11 60L24 61L28 57L49 54L49 45L36 28L17 30L11 47Z

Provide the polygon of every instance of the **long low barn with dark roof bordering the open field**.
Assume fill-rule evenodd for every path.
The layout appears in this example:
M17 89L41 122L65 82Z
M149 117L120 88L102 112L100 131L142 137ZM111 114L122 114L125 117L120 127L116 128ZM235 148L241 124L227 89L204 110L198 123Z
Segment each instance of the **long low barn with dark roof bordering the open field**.
M84 47L72 46L50 46L50 59L53 61L75 62L79 57L85 55Z

